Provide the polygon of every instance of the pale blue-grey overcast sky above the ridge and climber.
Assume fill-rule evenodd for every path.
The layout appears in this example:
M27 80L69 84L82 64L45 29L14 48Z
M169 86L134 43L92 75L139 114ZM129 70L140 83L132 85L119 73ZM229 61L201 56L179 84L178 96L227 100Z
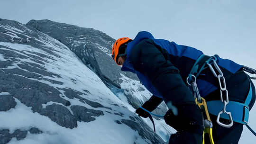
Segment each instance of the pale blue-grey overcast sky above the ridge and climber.
M256 0L0 0L0 18L23 24L50 19L115 39L146 30L256 68ZM247 137L256 140L248 134L243 142Z

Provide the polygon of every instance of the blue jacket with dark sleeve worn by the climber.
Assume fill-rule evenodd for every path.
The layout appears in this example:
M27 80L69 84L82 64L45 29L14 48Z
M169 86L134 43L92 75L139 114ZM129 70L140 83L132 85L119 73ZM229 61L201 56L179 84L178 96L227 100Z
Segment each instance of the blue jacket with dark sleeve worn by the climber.
M195 48L155 39L149 32L142 31L128 43L127 59L121 70L136 73L146 89L159 98L177 104L194 101L185 80L201 54L203 53ZM231 60L219 57L217 59L218 65L226 75L242 68L242 65ZM216 78L207 73L202 72L197 80L202 97L218 87Z

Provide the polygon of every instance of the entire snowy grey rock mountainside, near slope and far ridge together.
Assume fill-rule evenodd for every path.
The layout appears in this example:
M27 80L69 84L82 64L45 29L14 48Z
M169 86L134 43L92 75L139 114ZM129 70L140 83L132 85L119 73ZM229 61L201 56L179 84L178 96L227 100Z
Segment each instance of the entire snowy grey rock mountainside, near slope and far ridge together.
M92 28L0 19L0 144L162 144L130 111L150 93L113 63L113 42Z

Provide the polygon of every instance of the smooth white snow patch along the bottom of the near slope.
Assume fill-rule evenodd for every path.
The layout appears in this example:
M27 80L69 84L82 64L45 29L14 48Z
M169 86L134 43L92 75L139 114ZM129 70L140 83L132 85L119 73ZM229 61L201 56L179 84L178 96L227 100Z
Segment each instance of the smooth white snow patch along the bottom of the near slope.
M116 117L108 113L90 123L78 122L76 128L69 129L37 112L33 113L31 107L25 106L18 99L15 101L15 108L0 112L0 128L9 128L10 133L13 133L17 128L29 130L36 127L43 133L35 135L28 132L24 140L13 138L9 144L133 144L136 138L139 144L146 144L130 127L114 123Z

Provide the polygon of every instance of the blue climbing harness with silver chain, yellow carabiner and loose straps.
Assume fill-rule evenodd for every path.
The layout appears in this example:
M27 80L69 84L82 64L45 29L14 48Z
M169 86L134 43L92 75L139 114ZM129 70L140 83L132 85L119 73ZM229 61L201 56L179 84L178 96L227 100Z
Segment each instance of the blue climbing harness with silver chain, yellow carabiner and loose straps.
M210 120L210 115L209 115L209 111L211 114L216 115L217 116L217 123L219 124L219 126L223 126L223 127L231 127L235 122L244 124L247 126L247 128L256 136L255 131L253 131L253 129L248 126L248 118L249 118L249 103L252 99L252 84L250 81L250 90L248 92L247 95L247 99L245 101L245 103L239 103L239 102L235 102L235 101L229 101L229 92L227 90L227 86L226 86L226 81L225 81L225 77L223 72L220 70L219 65L217 64L217 56L218 55L214 55L214 56L208 56L208 55L204 55L202 54L197 61L194 63L191 72L189 73L186 82L187 84L191 87L192 92L194 94L194 98L195 98L195 102L196 104L199 106L199 108L201 109L202 112L202 116L203 116L203 125L204 125L204 132L203 132L203 143L204 144L204 136L205 134L209 135L209 139L210 139L210 144L214 144L213 141L213 136L212 136L212 121ZM197 77L200 75L200 73L207 69L210 68L210 71L213 73L213 75L218 79L219 81L219 90L220 90L220 100L212 100L212 101L207 101L201 97L200 93L199 93L199 89L197 87ZM199 71L198 71L199 70ZM256 70L249 68L247 66L243 65L243 71L249 72L251 74L256 74ZM256 80L256 77L250 77L248 75L248 77L250 79ZM225 99L224 99L225 98ZM228 105L229 104L229 105ZM224 107L222 106L224 105ZM208 111L208 107L210 106L210 109ZM155 117L161 117L163 118L164 116L161 115L156 115L148 110L146 110L143 107L139 107L142 108L143 110L145 110L147 113L149 113L149 118L151 120L151 122L153 123L154 126L154 132L155 132L155 123L154 120L152 118L152 115ZM231 115L231 111L235 110L235 112L233 113L233 115ZM227 115L221 115L221 114L227 114ZM229 124L223 124L219 121L219 119L224 118L224 119L228 119L229 120Z

